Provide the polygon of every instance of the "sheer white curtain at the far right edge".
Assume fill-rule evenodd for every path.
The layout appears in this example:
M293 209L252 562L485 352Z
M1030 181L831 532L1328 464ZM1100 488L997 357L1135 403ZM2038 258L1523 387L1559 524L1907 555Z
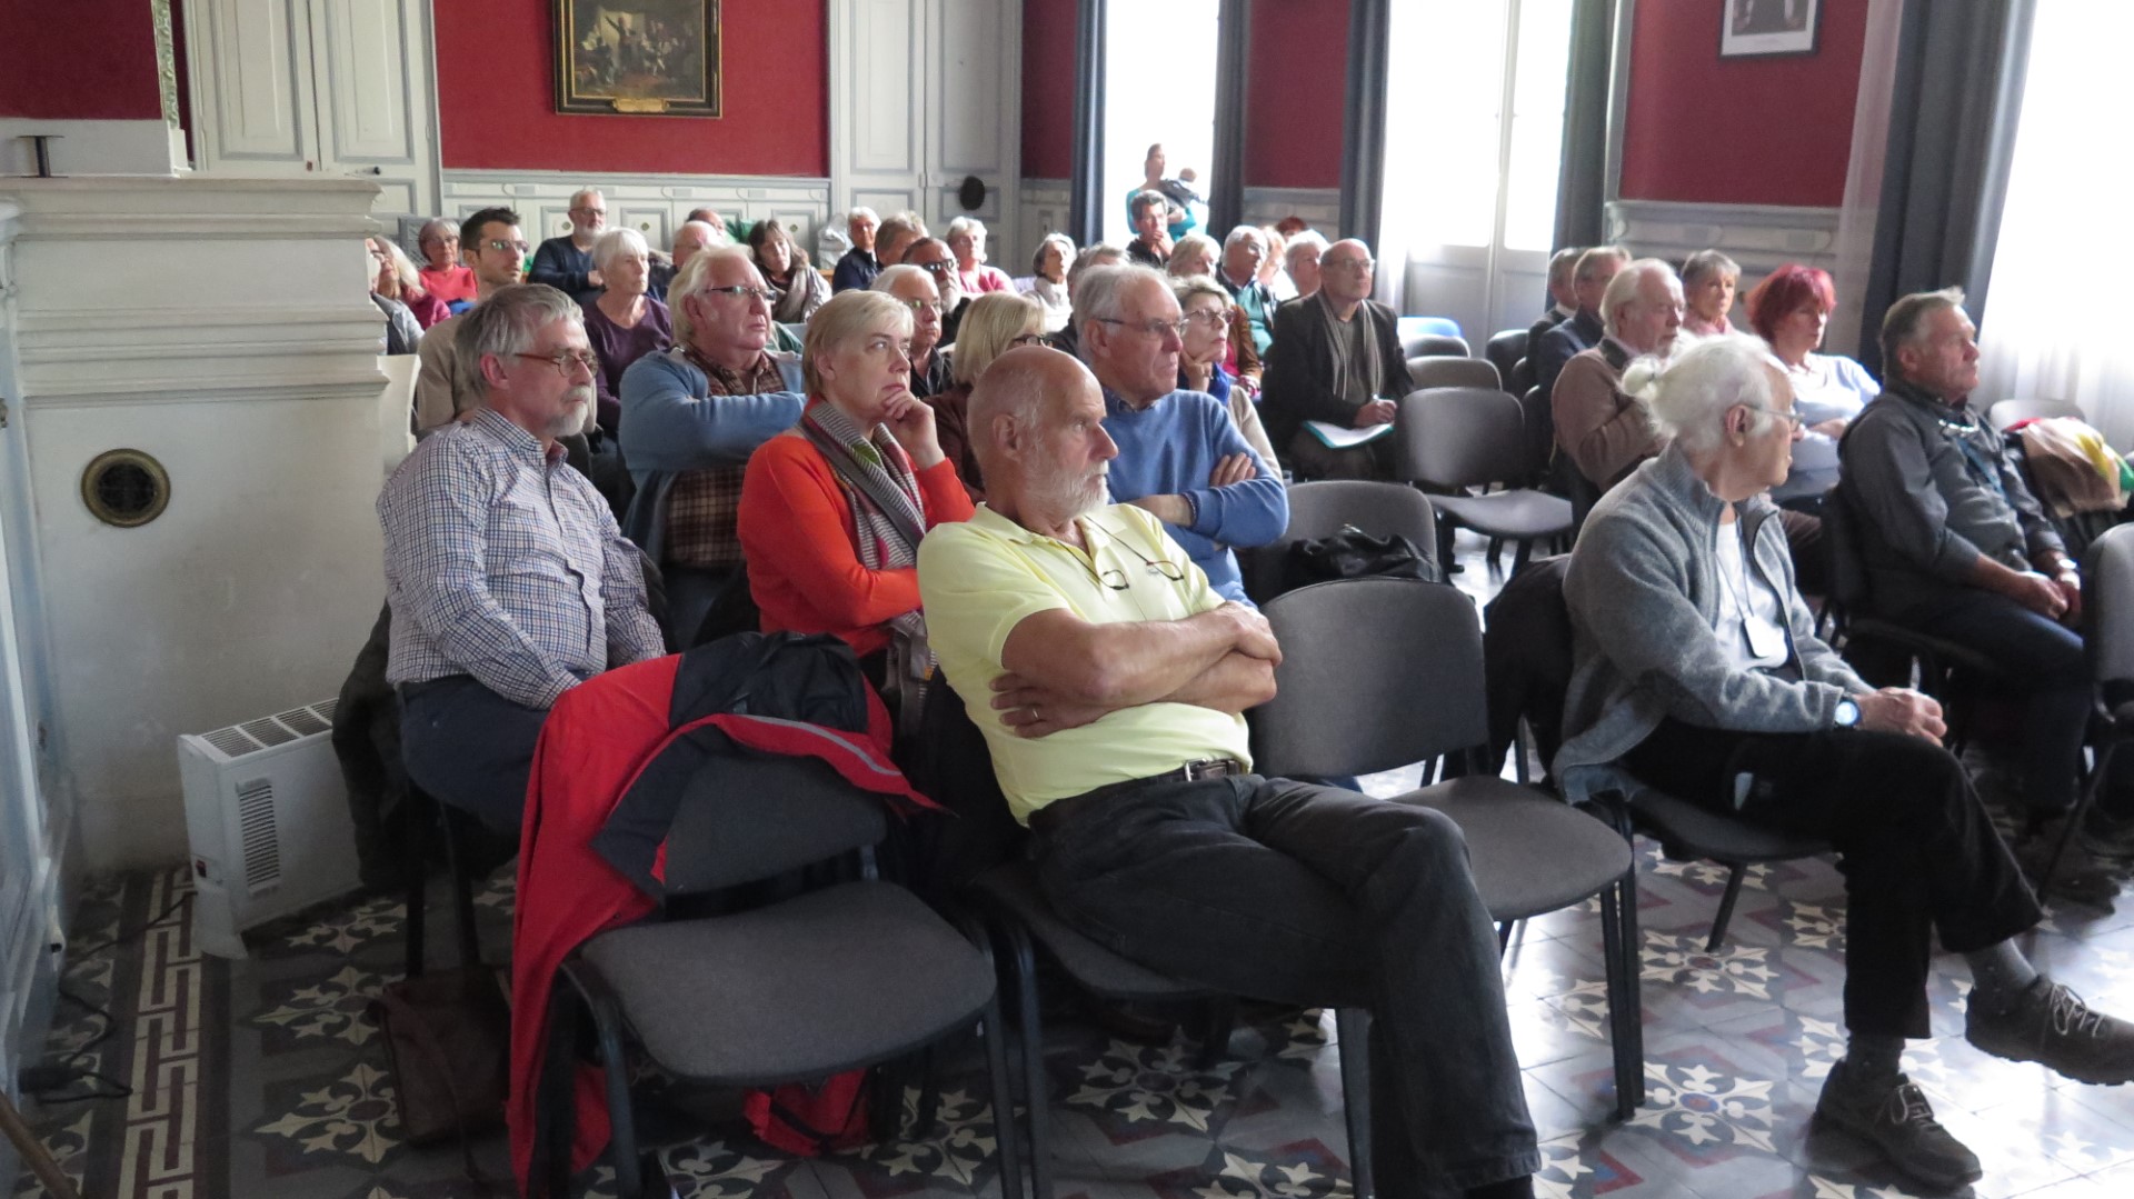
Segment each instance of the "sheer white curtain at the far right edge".
M2134 337L2119 331L2134 160L2125 102L2134 4L2038 4L2014 169L1978 337L1978 393L2066 399L2134 444Z

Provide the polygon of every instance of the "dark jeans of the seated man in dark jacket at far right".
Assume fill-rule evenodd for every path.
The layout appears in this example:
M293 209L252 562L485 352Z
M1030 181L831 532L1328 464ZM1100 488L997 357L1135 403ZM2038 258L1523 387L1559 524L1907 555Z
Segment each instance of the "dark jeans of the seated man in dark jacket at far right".
M1989 657L2023 691L2023 802L2044 815L2074 806L2093 693L2081 634L1970 587L1912 604L1899 621Z

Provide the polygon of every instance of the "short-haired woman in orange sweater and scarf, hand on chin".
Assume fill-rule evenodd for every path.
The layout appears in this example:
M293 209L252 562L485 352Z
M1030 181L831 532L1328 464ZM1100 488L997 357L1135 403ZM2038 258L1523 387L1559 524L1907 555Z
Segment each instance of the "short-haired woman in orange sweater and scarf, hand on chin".
M926 529L967 521L971 497L911 395L911 307L841 292L807 326L800 425L749 457L740 550L764 632L837 634L905 708L933 674L920 614Z

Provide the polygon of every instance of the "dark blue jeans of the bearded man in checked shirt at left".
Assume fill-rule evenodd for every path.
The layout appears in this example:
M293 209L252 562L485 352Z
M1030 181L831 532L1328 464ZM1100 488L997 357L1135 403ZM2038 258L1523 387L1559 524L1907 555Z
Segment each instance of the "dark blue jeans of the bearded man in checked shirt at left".
M546 710L514 704L472 674L401 687L401 762L416 787L519 836Z

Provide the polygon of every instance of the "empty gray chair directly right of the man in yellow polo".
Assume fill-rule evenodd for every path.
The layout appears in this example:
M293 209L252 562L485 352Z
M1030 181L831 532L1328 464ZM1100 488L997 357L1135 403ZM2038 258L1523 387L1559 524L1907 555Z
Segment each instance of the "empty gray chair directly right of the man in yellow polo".
M1351 578L1280 595L1265 617L1283 664L1274 700L1248 715L1255 770L1340 777L1458 757L1466 774L1389 802L1430 804L1460 826L1492 920L1600 896L1615 1112L1630 1118L1645 1099L1635 860L1603 819L1481 772L1490 721L1472 600L1434 582Z

